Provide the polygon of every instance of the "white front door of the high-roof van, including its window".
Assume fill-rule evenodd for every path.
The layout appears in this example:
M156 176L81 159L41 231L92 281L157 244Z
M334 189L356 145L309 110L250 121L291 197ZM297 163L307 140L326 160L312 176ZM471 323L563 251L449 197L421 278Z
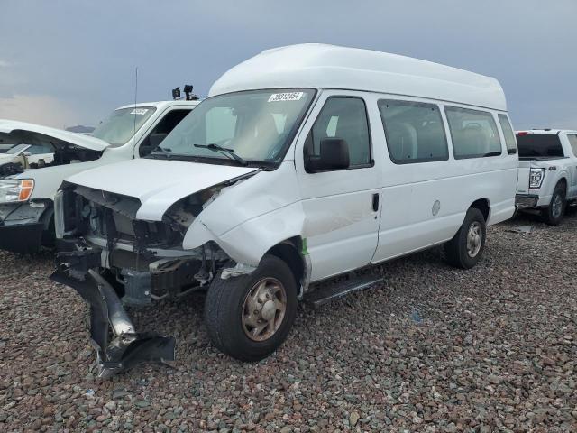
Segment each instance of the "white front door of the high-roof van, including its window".
M369 129L365 100L354 92L331 91L321 95L298 137L295 162L312 281L371 262L379 228L380 173ZM318 155L325 138L346 141L348 169L307 172L304 155Z

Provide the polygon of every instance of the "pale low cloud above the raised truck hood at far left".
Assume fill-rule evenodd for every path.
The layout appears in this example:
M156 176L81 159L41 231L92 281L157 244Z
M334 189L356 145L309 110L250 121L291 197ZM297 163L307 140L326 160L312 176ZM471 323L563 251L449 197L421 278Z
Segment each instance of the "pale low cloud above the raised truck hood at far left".
M0 97L0 118L57 128L78 124L81 120L78 110L73 106L46 95Z

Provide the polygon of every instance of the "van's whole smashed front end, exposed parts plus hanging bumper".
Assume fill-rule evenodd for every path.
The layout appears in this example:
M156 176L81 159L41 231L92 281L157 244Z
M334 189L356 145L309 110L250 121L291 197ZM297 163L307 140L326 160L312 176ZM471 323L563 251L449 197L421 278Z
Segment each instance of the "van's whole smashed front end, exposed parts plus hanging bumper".
M182 249L188 226L220 188L179 200L161 221L137 219L137 198L66 182L57 194L58 269L51 279L78 291L90 306L99 377L175 359L174 337L136 332L124 306L204 290L230 261L213 242Z

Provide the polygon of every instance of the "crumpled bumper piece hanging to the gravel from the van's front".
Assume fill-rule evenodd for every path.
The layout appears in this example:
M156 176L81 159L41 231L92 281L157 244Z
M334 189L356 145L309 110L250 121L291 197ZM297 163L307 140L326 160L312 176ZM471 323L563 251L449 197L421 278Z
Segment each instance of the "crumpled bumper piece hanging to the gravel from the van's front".
M60 267L50 280L78 291L90 306L90 336L96 348L98 377L108 378L143 362L174 361L175 338L137 333L114 288L96 271L88 270L81 278Z

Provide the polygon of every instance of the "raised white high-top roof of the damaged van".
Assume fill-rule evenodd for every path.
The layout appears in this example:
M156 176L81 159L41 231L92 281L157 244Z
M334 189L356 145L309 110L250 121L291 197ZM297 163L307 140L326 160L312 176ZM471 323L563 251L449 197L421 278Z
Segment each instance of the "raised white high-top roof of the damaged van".
M225 72L209 96L257 88L366 90L507 111L495 78L387 52L320 43L262 51Z

